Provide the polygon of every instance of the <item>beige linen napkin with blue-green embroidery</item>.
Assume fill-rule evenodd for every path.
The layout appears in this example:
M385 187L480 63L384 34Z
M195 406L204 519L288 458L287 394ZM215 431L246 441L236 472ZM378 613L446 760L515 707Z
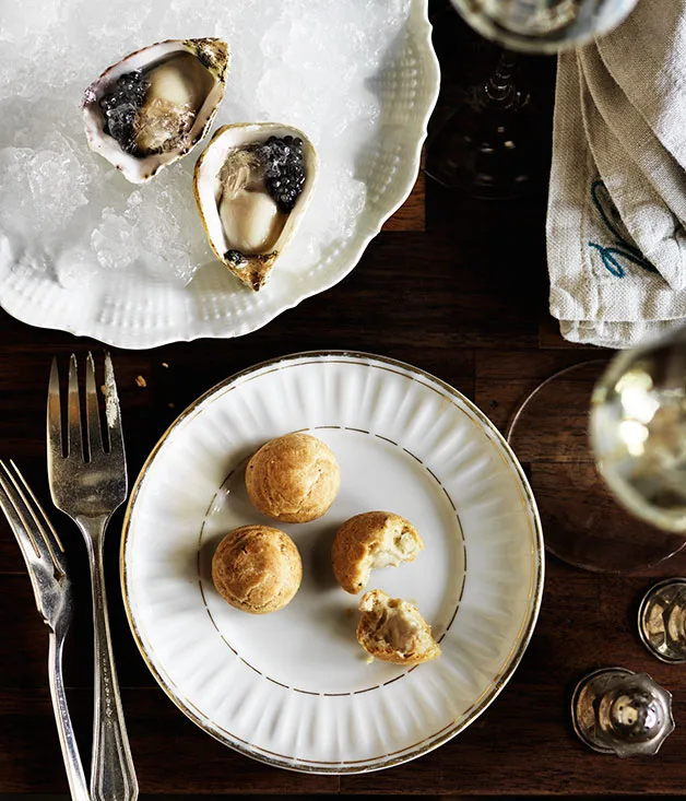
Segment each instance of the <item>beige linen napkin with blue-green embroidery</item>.
M686 321L686 0L639 0L558 57L547 213L551 313L628 348Z

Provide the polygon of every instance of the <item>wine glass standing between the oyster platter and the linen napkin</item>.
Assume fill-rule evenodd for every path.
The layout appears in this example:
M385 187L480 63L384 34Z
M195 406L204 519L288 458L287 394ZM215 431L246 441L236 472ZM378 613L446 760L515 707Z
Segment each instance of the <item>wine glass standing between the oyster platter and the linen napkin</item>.
M462 91L448 119L434 126L425 172L474 198L531 193L545 185L548 145L536 125L536 104L518 80L521 62L511 50L552 54L582 45L618 25L637 0L450 2L450 10L457 9L475 32L507 49L500 49L495 70ZM439 25L450 27L450 22L441 19ZM457 37L452 39L454 54Z

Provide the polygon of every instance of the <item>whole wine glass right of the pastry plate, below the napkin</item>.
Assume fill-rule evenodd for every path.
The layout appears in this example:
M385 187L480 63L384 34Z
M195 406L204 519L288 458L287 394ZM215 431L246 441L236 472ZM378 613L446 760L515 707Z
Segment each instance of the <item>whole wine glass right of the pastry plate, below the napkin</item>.
M552 553L612 573L673 555L686 544L686 328L555 374L507 438Z

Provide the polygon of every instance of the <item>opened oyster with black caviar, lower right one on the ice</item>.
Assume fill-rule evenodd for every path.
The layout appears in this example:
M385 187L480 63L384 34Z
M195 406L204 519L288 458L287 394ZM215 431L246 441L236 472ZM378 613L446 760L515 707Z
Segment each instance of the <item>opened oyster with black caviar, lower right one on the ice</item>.
M216 257L256 292L291 240L318 173L307 137L275 122L220 128L196 164L194 190Z

